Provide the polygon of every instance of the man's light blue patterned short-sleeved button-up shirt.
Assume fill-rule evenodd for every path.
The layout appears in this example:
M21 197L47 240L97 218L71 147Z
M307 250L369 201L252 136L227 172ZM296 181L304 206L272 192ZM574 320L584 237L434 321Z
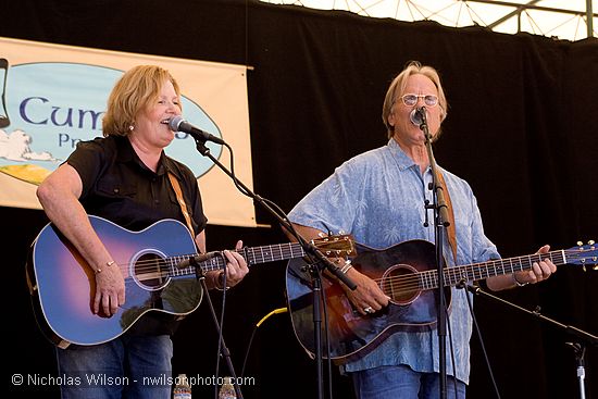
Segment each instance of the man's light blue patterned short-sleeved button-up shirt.
M499 258L496 246L484 235L479 210L469 184L441 170L453 207L457 233L457 261L445 246L449 265L465 265ZM384 147L367 151L345 162L309 192L289 213L294 223L323 232L350 233L358 242L373 248L388 248L410 239L435 241L434 214L428 210L424 226L424 200L432 202L429 169L420 167L390 139ZM448 242L445 237L445 242ZM433 267L433 265L431 265ZM456 362L447 340L447 373L469 383L472 319L466 290L452 288L449 316ZM448 326L447 326L448 328ZM398 332L374 351L344 365L346 372L381 365L407 364L418 372L438 372L437 331Z

